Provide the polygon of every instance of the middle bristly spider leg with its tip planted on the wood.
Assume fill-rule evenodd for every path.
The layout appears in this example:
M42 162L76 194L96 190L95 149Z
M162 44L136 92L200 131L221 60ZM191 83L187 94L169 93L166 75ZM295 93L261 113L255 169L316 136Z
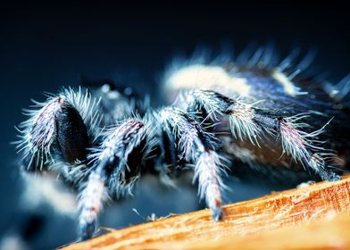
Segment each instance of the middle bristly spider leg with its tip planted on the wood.
M222 157L215 152L213 135L205 132L191 115L178 108L163 108L158 119L165 134L176 138L179 158L195 164L194 180L198 180L198 195L205 197L212 210L212 218L219 221L223 215L221 174L224 166Z

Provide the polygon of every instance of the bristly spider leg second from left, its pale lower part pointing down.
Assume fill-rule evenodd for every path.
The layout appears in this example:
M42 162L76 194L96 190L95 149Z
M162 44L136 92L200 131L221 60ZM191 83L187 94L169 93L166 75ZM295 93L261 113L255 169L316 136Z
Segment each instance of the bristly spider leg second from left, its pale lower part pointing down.
M95 162L79 196L79 239L92 237L105 195L131 192L141 163L152 147L152 131L143 121L130 119L106 132L102 145L89 155Z

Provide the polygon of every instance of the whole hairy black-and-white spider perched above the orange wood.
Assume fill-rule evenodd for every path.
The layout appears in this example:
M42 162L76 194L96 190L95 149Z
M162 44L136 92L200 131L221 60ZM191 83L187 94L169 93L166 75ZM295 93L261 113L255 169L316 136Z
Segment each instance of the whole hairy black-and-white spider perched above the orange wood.
M310 77L310 58L293 51L277 62L261 48L236 60L176 61L160 107L112 81L46 94L18 129L21 171L49 173L77 191L81 240L93 236L107 197L131 194L147 171L165 182L194 171L213 221L224 216L224 178L237 162L337 180L348 165L350 77L336 85Z

